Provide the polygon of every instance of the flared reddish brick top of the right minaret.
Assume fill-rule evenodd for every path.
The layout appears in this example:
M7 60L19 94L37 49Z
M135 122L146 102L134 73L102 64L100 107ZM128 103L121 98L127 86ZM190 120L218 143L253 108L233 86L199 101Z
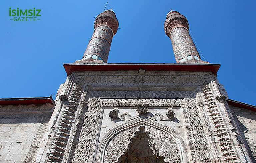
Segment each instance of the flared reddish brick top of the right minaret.
M168 37L174 27L182 26L189 30L188 20L185 16L181 15L178 11L171 10L164 22L164 30Z

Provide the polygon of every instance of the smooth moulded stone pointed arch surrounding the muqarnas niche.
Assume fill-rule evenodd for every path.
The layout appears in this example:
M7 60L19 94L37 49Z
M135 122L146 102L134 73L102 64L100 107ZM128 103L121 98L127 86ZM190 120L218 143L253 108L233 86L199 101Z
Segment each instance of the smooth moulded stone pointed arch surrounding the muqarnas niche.
M181 159L181 163L185 163L186 162L186 158L187 158L187 149L186 149L186 145L183 141L183 139L181 138L181 136L173 129L161 125L159 123L156 123L154 121L151 120L145 120L142 118L137 118L133 121L130 121L128 123L122 124L120 126L117 126L113 129L111 129L102 139L102 141L99 144L99 153L98 153L98 161L103 163L104 162L104 156L105 156L105 150L106 147L108 146L108 143L110 142L110 140L112 138L114 138L119 132L125 131L127 129L130 129L132 127L135 126L141 126L141 125L148 125L151 126L153 128L156 128L158 130L161 130L163 132L165 132L166 134L168 134L170 137L173 138L173 140L175 141L175 143L178 146L178 150L179 150L179 155L180 155L180 159ZM123 151L124 154L125 151ZM118 161L118 160L116 160Z

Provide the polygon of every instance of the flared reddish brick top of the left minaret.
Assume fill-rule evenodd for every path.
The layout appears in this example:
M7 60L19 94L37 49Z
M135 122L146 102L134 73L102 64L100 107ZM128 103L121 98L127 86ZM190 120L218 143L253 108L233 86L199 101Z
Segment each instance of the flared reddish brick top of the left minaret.
M99 25L107 25L109 26L112 31L113 35L116 34L118 30L118 20L116 18L116 14L114 11L111 10L105 10L103 13L99 14L94 22L94 29L96 29Z

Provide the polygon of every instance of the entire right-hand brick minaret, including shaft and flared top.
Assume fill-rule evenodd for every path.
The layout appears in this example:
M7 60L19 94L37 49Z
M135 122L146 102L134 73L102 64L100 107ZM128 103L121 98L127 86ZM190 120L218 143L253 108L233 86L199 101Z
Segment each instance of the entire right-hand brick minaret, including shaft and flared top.
M188 20L185 16L171 10L166 16L164 30L171 39L176 63L208 63L201 60L190 37Z

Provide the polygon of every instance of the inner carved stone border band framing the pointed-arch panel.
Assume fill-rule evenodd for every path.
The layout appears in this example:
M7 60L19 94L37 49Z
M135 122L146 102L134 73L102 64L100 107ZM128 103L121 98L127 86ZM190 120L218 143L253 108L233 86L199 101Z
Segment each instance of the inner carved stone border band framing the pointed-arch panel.
M89 93L90 94L90 93ZM90 95L89 95L90 96ZM93 96L94 97L94 96ZM185 116L185 121L187 121L187 123L189 123L190 124L190 121L193 121L193 123L194 123L194 120L193 119L191 119L191 116L193 117L193 115L195 114L195 111L196 111L196 114L197 114L197 123L199 122L200 124L202 123L202 121L201 121L201 118L200 118L200 116L199 116L199 108L197 107L197 105L196 105L196 100L195 100L195 98L99 98L97 101L97 108L98 109L100 109L100 110L98 110L97 112L100 112L100 114L101 114L101 116L100 117L102 117L102 109L103 109L103 106L105 106L105 107L109 107L109 106L112 106L112 107L117 107L117 106L135 106L136 105L136 102L131 102L131 103L120 103L120 102L116 102L116 103L112 103L112 102L107 102L107 103L105 103L105 102L100 102L101 100L100 99L110 99L110 100L117 100L117 101L121 101L121 100L125 100L125 99L132 99L132 100L139 100L140 101L140 103L142 102L142 103L148 103L148 102L145 102L143 99L145 99L145 100L149 100L149 101L151 101L150 103L149 103L149 106L159 106L159 104L161 104L160 106L172 106L172 105L175 105L175 106L182 106L182 107L184 107L185 109L183 109L183 115ZM186 102L185 102L185 99L186 99ZM155 100L155 101L154 101ZM160 101L165 101L164 103L161 103L161 102L159 102L159 100ZM174 102L172 102L172 103L170 103L170 102L166 102L166 101L168 101L168 100L174 100ZM178 100L178 101L177 101ZM187 103L187 104L186 104ZM187 106L186 106L187 105ZM191 105L193 105L193 106L191 106ZM191 108L191 107L193 107L193 108ZM192 109L192 110L191 110ZM194 113L192 113L192 114L190 114L190 111L188 112L187 110L191 110L192 112L194 112ZM189 118L187 117L187 116L189 116ZM99 123L101 123L101 122L99 122ZM203 136L204 137L204 140L205 140L205 143L206 143L206 135L205 135L205 132L204 131L202 131L202 130L200 130L200 132L198 133L197 131L195 132L195 133L193 133L193 131L194 130L192 130L192 126L191 125L188 125L186 123L186 128L187 128L187 132L188 132L188 138L189 138L189 142L190 142L190 150L191 150L191 152L192 152L192 158L191 159L193 159L193 161L195 161L195 162L197 162L197 161L202 161L202 159L207 159L207 162L209 162L211 159L212 159L212 155L210 154L210 155L208 155L209 154L209 152L210 151L208 151L208 152L203 152L204 153L204 155L200 155L200 158L197 158L197 154L196 154L196 152L199 152L198 150L198 148L201 148L200 147L200 144L198 144L198 143L196 143L196 144L198 144L197 146L195 146L195 144L194 144L194 136L196 136L195 134L199 134L199 136L200 136L200 133L201 133L201 136ZM192 122L191 122L192 123ZM99 126L100 124L97 124L97 126L98 126L98 128L100 128L100 126ZM201 127L203 127L203 126L201 126ZM94 130L94 132L99 132L99 129L96 131L96 130ZM193 135L193 136L192 136ZM98 134L98 137L97 138L94 138L94 139L99 139L99 134ZM198 140L197 140L198 141ZM201 141L200 141L201 142ZM93 145L93 149L96 149L96 148L98 148L98 146L97 146L97 144L98 144L98 142L96 142L96 144L94 144ZM206 144L205 144L206 145ZM204 145L204 146L205 146ZM208 147L210 146L210 144L209 143L207 143L207 145L205 146L207 149L209 149ZM91 152L93 152L93 151L91 151ZM205 158L205 154L206 155L208 155L208 157L207 158ZM91 155L91 154L90 154ZM209 157L210 156L210 157ZM91 157L91 156L90 156ZM188 158L188 157L186 157L186 158ZM89 159L89 158L88 158ZM93 157L93 159L91 158L91 159L89 159L89 160L93 160L93 162L95 162L95 159L96 159L96 150L94 150L94 157ZM211 162L211 161L210 161Z

